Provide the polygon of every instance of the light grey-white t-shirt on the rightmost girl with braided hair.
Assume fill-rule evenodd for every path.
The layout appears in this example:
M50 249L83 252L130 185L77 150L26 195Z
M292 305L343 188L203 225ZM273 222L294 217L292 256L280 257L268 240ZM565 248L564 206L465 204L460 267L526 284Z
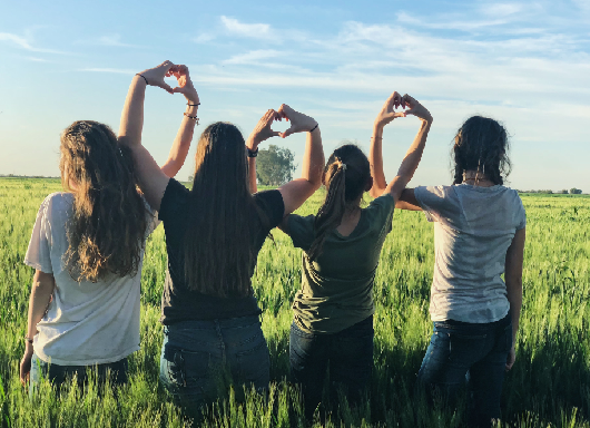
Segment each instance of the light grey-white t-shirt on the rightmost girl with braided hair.
M504 186L416 187L434 223L433 321L494 322L510 309L502 280L507 251L527 215L517 191Z

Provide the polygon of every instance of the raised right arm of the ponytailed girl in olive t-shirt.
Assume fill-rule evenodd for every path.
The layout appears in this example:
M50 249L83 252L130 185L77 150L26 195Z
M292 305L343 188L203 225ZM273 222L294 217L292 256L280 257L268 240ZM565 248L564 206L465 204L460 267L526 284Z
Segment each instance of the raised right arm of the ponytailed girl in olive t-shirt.
M432 125L432 115L430 111L407 94L402 97L402 106L409 106L410 110L406 110L405 114L416 116L421 124L417 134L414 137L414 142L405 153L400 169L397 169L397 175L385 188L385 192L389 192L393 196L396 204L420 164L422 152L424 152L424 146L426 145L426 137L429 136L429 130Z

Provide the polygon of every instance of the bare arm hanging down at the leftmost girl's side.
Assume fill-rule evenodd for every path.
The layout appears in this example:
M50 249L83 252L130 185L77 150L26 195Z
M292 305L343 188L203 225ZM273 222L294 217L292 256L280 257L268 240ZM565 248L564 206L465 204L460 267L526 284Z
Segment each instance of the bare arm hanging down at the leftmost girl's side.
M47 307L49 307L49 302L51 302L51 295L53 294L55 286L56 281L51 273L45 273L39 270L35 272L31 295L29 298L27 338L32 339L37 334L37 324L43 319ZM20 381L22 385L26 385L27 380L29 379L32 353L32 343L27 341L24 356L20 361Z

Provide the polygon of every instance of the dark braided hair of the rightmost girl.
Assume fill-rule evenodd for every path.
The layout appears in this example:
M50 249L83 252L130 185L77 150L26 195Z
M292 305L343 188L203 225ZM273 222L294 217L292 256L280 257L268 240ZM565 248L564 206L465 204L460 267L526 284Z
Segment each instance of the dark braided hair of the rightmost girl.
M453 184L463 183L465 171L476 171L494 184L504 184L510 174L508 133L494 119L470 117L459 128L453 145Z

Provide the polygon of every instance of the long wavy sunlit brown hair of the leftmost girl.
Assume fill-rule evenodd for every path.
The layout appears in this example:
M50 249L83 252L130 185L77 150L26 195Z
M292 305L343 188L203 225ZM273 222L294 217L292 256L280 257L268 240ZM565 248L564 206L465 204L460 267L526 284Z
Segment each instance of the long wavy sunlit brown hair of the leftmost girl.
M147 227L129 148L107 126L79 120L61 134L61 179L73 184L65 262L77 281L135 275Z

